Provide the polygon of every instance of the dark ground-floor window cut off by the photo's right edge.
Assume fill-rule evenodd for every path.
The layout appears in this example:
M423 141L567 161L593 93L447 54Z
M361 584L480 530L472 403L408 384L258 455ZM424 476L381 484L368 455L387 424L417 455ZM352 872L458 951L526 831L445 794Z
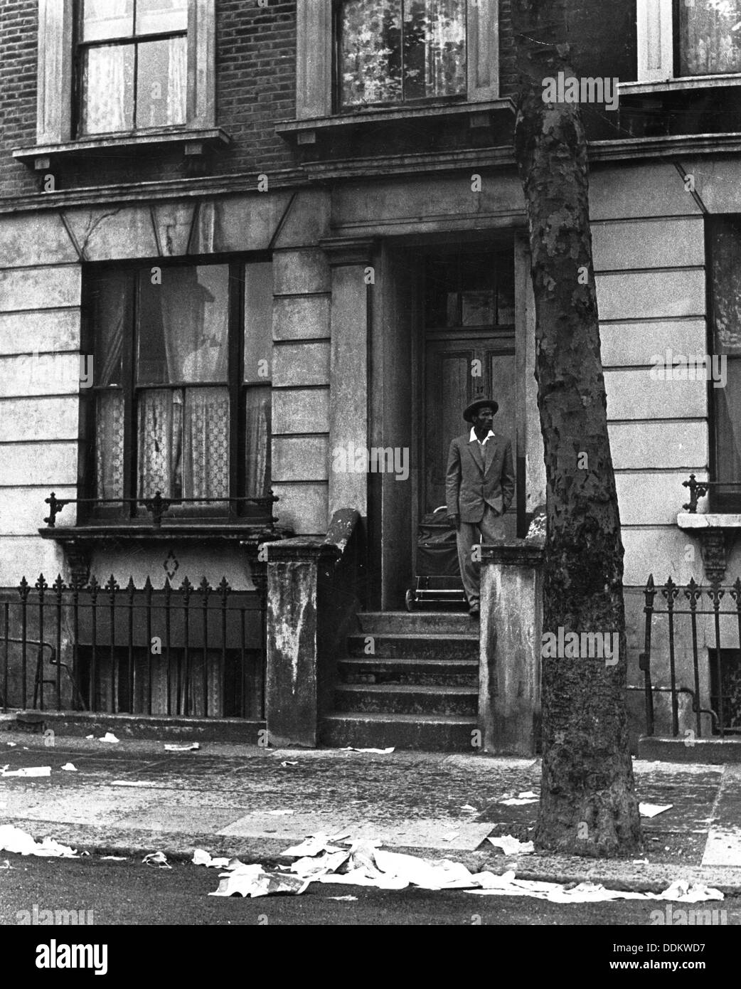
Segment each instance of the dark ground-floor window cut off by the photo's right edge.
M741 221L718 218L710 228L713 352L726 355L728 376L725 388L710 390L715 404L715 480L736 484L741 482Z

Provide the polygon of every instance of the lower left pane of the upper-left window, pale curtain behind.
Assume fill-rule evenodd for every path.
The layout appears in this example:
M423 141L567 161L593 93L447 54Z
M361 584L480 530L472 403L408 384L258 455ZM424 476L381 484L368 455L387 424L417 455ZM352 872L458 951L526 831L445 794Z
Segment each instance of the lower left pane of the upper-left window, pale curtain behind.
M83 133L132 129L133 45L89 48L82 77Z

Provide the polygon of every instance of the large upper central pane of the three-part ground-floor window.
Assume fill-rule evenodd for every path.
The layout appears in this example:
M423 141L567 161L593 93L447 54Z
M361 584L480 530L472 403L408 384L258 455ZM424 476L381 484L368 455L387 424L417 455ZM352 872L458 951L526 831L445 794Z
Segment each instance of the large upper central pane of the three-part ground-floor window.
M140 273L137 382L226 382L228 266L165 267L161 280Z

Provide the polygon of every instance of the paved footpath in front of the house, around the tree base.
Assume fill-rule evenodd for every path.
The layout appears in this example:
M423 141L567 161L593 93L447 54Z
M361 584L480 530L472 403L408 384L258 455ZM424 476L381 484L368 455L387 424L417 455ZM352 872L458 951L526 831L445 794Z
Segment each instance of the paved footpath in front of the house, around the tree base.
M93 855L163 851L177 860L203 848L267 865L285 862L281 852L306 835L350 831L475 871L515 868L521 878L651 892L688 879L741 893L741 766L635 760L639 800L671 809L643 820L643 860L584 859L505 856L487 841L533 837L537 802L503 800L539 793L539 760L211 742L170 753L164 742L58 735L53 742L0 732L0 768L51 770L0 778L0 823ZM68 763L76 771L62 769Z

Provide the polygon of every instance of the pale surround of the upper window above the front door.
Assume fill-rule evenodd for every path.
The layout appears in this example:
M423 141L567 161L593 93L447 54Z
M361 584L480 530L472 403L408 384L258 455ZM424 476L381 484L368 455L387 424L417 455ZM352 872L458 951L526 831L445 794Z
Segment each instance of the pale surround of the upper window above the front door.
M311 0L296 5L296 119L357 118L358 107L340 109L337 84L336 0ZM486 103L499 99L499 2L466 0L466 93L425 97L392 105L405 107L439 103ZM369 111L377 111L373 104Z

